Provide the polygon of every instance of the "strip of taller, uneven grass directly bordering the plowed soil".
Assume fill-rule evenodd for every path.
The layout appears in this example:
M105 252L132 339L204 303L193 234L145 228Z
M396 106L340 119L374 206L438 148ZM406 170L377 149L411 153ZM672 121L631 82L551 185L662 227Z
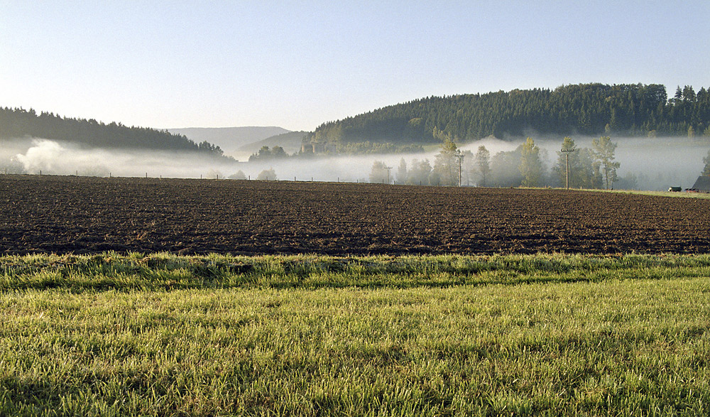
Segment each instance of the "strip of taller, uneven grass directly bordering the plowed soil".
M0 257L0 290L410 288L709 275L707 255Z

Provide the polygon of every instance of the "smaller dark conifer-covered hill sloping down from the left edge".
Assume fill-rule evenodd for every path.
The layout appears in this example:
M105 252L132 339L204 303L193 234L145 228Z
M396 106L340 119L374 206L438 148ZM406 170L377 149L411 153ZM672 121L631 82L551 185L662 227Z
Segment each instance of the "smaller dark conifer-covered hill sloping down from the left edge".
M37 114L33 109L0 107L0 139L35 137L70 141L89 148L138 148L163 151L200 151L222 156L222 149L204 141L144 127L94 119L70 119L53 113Z

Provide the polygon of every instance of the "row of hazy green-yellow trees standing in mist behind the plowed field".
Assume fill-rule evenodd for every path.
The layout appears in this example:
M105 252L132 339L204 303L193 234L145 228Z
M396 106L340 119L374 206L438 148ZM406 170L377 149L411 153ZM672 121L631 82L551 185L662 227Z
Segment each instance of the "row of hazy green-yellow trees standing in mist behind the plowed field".
M407 163L403 158L392 172L394 167L375 161L369 179L372 183L408 185L634 188L633 178L617 175L621 163L615 158L616 146L609 136L601 136L592 140L591 148L577 148L566 136L552 169L547 170L540 147L530 137L515 150L493 156L486 146L479 146L476 153L461 152L454 141L445 139L433 164L428 159ZM706 163L710 164L710 153Z

